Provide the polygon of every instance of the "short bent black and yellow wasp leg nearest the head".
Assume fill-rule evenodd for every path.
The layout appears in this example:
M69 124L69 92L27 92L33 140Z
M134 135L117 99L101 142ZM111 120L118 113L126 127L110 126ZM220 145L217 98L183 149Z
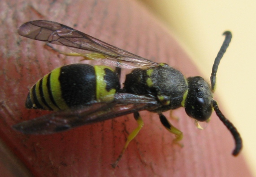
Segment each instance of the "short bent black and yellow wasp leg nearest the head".
M178 130L175 126L173 126L168 120L167 118L163 115L163 114L159 114L159 118L161 123L163 124L163 126L165 126L165 128L171 132L172 134L174 134L176 136L176 138L174 139L174 143L177 143L178 145L180 145L181 147L183 147L183 145L181 143L178 143L180 140L182 140L183 138L183 133L182 131Z

